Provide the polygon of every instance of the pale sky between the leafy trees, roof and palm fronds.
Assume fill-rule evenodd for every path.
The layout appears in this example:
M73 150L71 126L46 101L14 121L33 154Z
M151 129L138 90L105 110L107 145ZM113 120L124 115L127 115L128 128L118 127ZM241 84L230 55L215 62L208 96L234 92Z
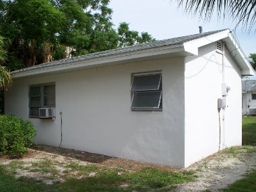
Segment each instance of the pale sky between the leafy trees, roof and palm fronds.
M110 8L113 9L113 23L116 28L119 23L129 23L130 30L148 32L156 40L177 38L199 33L199 26L203 26L203 32L234 30L236 23L232 19L221 19L218 22L217 15L213 15L210 22L204 23L198 17L188 16L182 9L177 8L174 0L111 0ZM241 48L248 57L250 53L256 53L256 34L245 32L241 26L232 32Z

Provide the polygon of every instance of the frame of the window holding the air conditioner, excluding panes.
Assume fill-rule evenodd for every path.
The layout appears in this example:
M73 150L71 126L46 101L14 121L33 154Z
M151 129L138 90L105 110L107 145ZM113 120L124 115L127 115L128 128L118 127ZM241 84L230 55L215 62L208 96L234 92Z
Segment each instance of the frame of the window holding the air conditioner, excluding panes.
M54 99L55 99L55 102L54 102L54 105L44 105L44 101L46 100L45 97L46 95L44 94L44 87L46 86L51 86L51 85L55 85L55 82L53 83L41 83L41 84L36 84L36 85L30 85L29 88L28 88L28 97L29 97L29 101L28 101L28 107L29 107L29 113L28 113L28 116L30 118L39 118L39 108L56 108L56 87L55 87L55 93L54 93ZM31 95L30 94L30 90L31 90L31 87L40 87L40 94L39 95ZM31 105L31 98L33 97L40 97L40 105ZM51 97L51 95L50 95ZM38 109L38 115L32 115L32 109Z

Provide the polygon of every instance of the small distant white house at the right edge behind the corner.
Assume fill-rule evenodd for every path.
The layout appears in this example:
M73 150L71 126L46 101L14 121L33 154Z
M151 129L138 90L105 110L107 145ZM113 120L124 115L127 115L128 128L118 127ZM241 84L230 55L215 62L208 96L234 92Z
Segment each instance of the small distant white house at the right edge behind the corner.
M256 80L242 81L243 115L256 115Z

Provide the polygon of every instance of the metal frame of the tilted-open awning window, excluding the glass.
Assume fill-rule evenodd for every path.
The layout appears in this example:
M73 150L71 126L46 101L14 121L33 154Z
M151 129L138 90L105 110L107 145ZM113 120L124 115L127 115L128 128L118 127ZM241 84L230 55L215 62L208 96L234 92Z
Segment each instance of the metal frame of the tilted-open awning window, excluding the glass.
M133 83L135 82L136 77L144 77L144 76L153 76L153 75L160 75L159 83L157 89L133 89ZM155 71L150 73L133 73L131 74L131 111L162 111L162 71ZM158 102L158 106L155 107L136 107L133 106L133 102L135 99L135 94L139 95L139 93L156 93L160 92ZM149 95L150 96L150 95Z

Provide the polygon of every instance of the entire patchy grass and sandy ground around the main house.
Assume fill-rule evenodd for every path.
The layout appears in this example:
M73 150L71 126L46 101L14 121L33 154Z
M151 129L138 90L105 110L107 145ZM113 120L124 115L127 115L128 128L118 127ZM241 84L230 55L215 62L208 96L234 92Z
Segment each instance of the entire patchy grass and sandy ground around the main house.
M0 191L255 191L256 117L243 117L243 146L174 169L53 146L0 157Z

